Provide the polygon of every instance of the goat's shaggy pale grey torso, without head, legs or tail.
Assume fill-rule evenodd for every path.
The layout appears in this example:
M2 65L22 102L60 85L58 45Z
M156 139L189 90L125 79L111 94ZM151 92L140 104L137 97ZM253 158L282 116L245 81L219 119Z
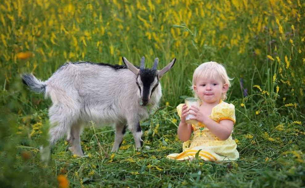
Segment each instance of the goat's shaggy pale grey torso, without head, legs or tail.
M123 67L123 66L122 66ZM113 122L139 108L136 76L129 69L93 63L67 63L47 81L46 94L53 103L79 108L82 118ZM143 111L140 107L138 110ZM145 112L133 112L144 113Z

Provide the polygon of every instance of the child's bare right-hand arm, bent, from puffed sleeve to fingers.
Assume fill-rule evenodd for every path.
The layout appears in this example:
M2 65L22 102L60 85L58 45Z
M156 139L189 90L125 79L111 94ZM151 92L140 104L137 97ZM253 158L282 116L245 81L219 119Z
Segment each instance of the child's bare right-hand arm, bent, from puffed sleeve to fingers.
M234 125L232 120L224 119L217 123L216 121L201 113L199 109L194 106L192 106L190 110L192 111L189 111L189 113L195 116L193 119L204 123L204 125L219 139L226 140L231 135Z

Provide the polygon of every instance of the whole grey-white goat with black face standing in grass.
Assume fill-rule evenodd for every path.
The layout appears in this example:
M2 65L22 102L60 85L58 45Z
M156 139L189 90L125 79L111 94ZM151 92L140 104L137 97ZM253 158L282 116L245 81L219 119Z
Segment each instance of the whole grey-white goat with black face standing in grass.
M132 132L135 148L143 145L140 120L149 115L146 106L158 106L162 96L159 79L175 64L157 70L155 58L152 69L134 66L122 57L125 65L91 62L67 62L48 80L38 80L32 73L23 74L23 83L34 92L50 97L49 143L54 145L65 134L73 154L83 156L80 134L90 120L102 125L115 125L115 140L111 152L122 144L126 125Z

